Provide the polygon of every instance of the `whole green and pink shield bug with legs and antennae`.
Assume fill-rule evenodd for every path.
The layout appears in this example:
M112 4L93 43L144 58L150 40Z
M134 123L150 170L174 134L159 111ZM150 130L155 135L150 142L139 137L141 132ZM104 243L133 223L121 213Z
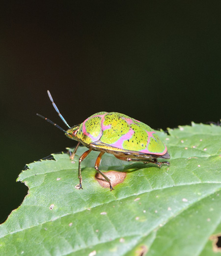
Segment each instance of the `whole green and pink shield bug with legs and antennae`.
M68 129L64 130L46 117L37 115L65 132L65 135L70 139L78 141L70 158L74 159L80 144L88 148L79 158L78 177L80 189L83 189L81 162L92 150L100 152L94 168L109 183L111 190L113 190L111 180L99 170L101 158L105 153L112 154L117 159L124 161L150 162L157 164L159 167L163 163L169 165L169 162L157 161L157 158L169 159L170 156L166 145L159 139L156 132L144 123L117 112L99 112L88 117L82 124L70 127L60 114L49 91L48 96Z

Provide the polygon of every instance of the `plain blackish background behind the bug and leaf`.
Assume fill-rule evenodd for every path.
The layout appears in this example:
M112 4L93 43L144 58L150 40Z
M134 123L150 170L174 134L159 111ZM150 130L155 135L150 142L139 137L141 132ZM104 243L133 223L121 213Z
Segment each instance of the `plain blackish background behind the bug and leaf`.
M0 221L26 163L76 145L70 126L117 111L152 128L221 119L221 1L1 1Z

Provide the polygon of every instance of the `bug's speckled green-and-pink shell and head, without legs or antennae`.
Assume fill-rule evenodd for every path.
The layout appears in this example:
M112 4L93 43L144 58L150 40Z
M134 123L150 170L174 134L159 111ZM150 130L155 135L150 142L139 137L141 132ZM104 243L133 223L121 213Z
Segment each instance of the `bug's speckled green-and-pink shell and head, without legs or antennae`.
M166 145L156 132L138 120L117 112L99 112L87 118L76 133L85 146L102 151L135 152L168 159ZM67 130L73 132L74 128Z

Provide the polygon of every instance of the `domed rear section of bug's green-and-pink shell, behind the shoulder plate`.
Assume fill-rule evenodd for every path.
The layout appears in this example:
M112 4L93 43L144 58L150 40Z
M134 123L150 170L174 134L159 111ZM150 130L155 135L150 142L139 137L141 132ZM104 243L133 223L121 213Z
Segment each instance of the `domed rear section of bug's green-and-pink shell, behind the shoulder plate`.
M102 144L144 154L166 154L166 146L154 130L126 115L107 113L102 120L102 130Z

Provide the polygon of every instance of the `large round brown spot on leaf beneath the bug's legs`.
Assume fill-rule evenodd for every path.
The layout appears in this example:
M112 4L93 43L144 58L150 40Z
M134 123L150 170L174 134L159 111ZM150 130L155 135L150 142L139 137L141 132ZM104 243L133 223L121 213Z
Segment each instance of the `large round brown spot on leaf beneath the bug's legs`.
M105 172L105 175L111 180L112 187L116 186L119 183L122 183L127 175L126 172L118 172L118 171L108 171ZM109 183L105 180L105 178L100 174L96 173L95 179L98 183L104 188L110 188Z

